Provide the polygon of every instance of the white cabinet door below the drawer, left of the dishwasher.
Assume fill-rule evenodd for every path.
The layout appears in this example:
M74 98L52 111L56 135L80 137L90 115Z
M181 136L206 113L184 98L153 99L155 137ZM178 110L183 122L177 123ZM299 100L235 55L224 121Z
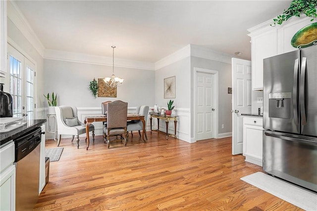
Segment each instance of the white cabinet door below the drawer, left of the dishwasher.
M15 210L15 166L0 175L0 211Z

